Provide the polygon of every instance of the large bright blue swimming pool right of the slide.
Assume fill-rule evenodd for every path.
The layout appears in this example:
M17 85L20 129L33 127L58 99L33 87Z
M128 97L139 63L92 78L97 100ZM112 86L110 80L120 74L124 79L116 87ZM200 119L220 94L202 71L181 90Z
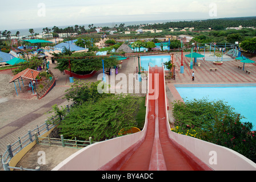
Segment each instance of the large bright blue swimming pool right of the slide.
M256 84L231 85L174 85L184 101L208 98L209 101L222 100L234 107L234 111L246 118L242 122L253 123L256 129ZM209 87L210 86L210 87Z

